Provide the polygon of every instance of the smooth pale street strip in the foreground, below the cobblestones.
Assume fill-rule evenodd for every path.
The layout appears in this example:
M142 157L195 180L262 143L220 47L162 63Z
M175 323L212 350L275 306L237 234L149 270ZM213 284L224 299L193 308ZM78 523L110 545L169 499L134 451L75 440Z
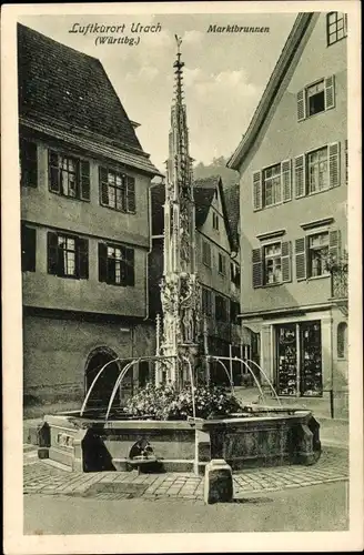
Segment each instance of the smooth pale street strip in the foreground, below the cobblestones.
M178 497L26 495L24 534L327 532L347 529L347 483L251 494L204 505Z

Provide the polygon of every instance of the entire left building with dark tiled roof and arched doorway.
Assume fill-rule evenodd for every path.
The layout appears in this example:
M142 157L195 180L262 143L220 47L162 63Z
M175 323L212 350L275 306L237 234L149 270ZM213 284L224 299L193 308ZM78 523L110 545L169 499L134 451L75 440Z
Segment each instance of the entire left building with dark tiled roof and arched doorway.
M24 403L105 404L153 355L142 150L99 60L18 26ZM141 374L143 370L141 369ZM138 369L124 389L138 381Z

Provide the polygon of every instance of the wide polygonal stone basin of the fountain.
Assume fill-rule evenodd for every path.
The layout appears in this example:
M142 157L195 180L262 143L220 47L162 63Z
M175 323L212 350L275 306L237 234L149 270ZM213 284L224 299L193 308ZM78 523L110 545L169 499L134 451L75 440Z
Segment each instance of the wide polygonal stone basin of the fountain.
M314 464L321 454L320 424L310 411L254 406L216 420L110 420L79 412L46 415L38 432L39 456L78 472L129 471L129 453L146 440L156 472L204 472L212 458L233 471L252 466ZM195 447L196 442L196 447ZM195 456L198 454L198 465Z

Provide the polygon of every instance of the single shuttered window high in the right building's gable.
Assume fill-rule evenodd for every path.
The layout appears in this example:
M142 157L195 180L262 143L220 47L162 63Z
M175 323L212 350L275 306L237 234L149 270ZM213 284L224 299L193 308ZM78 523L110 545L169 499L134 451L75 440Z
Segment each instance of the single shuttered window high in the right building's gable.
M297 92L297 121L335 108L335 75L322 78Z

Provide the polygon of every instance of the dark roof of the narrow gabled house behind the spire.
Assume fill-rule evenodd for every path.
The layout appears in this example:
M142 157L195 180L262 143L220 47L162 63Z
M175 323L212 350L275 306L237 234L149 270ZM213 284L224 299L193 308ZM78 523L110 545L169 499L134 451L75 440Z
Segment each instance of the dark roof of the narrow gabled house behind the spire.
M194 181L193 196L195 204L195 223L196 229L200 230L204 222L206 221L208 213L216 191L220 190L220 196L222 201L222 209L224 213L224 223L228 233L228 238L231 244L231 249L234 250L237 246L229 221L229 212L226 209L224 190L222 186L222 180L220 175L211 175L210 178L203 178ZM164 213L163 204L165 201L165 189L163 183L158 183L152 185L152 235L162 235L164 226Z

